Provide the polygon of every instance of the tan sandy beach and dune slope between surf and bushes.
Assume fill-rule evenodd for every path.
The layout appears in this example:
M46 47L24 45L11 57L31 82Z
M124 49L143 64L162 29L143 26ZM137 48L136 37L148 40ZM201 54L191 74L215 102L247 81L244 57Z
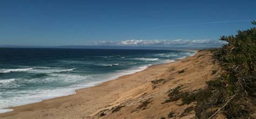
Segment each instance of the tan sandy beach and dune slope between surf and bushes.
M183 85L182 91L193 92L206 86L205 81L218 75L219 66L210 51L177 62L150 66L144 71L126 75L103 84L78 90L76 94L44 100L38 103L13 107L14 111L0 114L0 118L160 118L170 111L177 118L194 118L194 111L180 116L184 109L196 105L178 106L181 100L161 104L167 99L166 92ZM178 73L184 70L183 73ZM212 74L212 70L217 73ZM156 84L152 80L164 79ZM153 86L154 85L154 86ZM154 87L154 89L153 89ZM150 99L145 107L141 102ZM118 111L111 108L119 106Z

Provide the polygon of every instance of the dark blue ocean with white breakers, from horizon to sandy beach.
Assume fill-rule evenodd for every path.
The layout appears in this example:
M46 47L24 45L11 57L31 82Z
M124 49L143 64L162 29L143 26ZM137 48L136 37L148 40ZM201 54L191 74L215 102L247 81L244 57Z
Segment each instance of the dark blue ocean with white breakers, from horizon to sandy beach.
M173 62L193 51L0 48L0 113Z

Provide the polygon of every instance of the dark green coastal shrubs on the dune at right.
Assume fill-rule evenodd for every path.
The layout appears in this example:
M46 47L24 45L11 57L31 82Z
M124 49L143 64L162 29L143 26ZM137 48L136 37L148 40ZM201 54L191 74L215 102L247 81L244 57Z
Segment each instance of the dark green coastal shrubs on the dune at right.
M256 22L252 22L256 25ZM221 36L227 44L212 50L223 70L215 80L207 81L208 87L199 91L196 116L212 118L223 114L227 118L250 118L256 106L256 28L238 31L233 36ZM208 93L211 92L211 93Z

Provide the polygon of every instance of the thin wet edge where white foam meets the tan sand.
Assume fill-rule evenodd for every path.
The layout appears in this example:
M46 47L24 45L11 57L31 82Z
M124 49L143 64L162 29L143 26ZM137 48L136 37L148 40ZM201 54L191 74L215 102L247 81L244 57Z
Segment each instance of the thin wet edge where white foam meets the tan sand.
M193 55L195 55L197 53L197 50L190 50L190 51L194 51L195 52ZM133 75L134 73L142 72L142 71L147 70L149 68L153 68L154 66L157 66L157 65L165 65L165 64L169 64L169 63L174 63L174 62L177 62L177 61L179 61L181 59L184 59L184 58L187 58L187 57L191 57L193 55L188 55L188 56L184 56L184 57L181 57L181 58L172 59L172 61L169 61L169 62L164 62L164 63L159 63L159 64L144 65L146 68L143 68L142 70L139 70L139 71L136 71L136 72L127 73L127 74L120 75L120 76L114 76L114 78L110 78L110 79L107 79L107 80L100 81L99 83L95 83L95 85L90 86L90 87L77 88L72 94L63 95L63 96L57 96L57 97L50 98L50 99L44 99L44 100L41 100L39 102L28 103L28 104L21 105L21 106L14 106L14 107L3 108L3 110L6 109L6 110L10 110L10 111L5 111L4 113L0 113L0 117L2 117L1 115L5 115L5 114L8 114L8 113L12 113L13 111L16 111L15 110L16 107L23 107L23 106L33 105L35 103L41 103L41 102L48 101L48 100L64 98L64 97L70 96L70 95L76 95L77 92L82 91L82 90L86 90L87 88L95 87L95 86L107 83L109 81L118 80L119 78L126 77L126 76L129 76L129 75ZM138 68L144 67L144 66L138 66Z

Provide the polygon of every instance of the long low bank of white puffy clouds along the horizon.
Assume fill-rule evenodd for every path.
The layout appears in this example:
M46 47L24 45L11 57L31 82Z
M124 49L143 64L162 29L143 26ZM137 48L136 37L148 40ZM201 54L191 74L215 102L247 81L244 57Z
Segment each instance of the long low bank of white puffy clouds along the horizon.
M152 46L152 47L220 47L226 43L221 40L124 40L124 41L99 41L92 42L96 45L107 46Z

